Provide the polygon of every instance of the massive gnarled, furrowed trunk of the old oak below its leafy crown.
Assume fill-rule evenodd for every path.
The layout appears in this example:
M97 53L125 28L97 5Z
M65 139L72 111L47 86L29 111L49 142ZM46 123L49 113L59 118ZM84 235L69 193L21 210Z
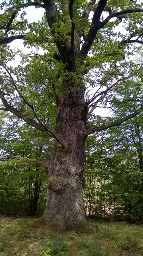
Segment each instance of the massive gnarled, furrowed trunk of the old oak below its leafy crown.
M82 87L83 89L83 87ZM43 218L63 230L85 223L83 211L84 142L86 107L84 92L76 97L71 92L57 100L58 115L55 133L64 143L55 141L50 157L47 204ZM75 94L75 93L74 93Z

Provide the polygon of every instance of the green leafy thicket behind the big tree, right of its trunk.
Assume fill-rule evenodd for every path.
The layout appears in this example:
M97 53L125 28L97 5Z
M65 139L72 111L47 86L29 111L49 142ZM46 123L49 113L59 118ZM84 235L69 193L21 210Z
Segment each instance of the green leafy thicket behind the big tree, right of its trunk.
M134 111L142 102L142 83L130 81L119 87L108 103L113 116L120 118ZM98 117L98 122L101 118ZM86 142L87 175L84 187L84 205L87 215L109 217L115 220L142 218L142 154L143 116L136 116L120 126L101 131Z

